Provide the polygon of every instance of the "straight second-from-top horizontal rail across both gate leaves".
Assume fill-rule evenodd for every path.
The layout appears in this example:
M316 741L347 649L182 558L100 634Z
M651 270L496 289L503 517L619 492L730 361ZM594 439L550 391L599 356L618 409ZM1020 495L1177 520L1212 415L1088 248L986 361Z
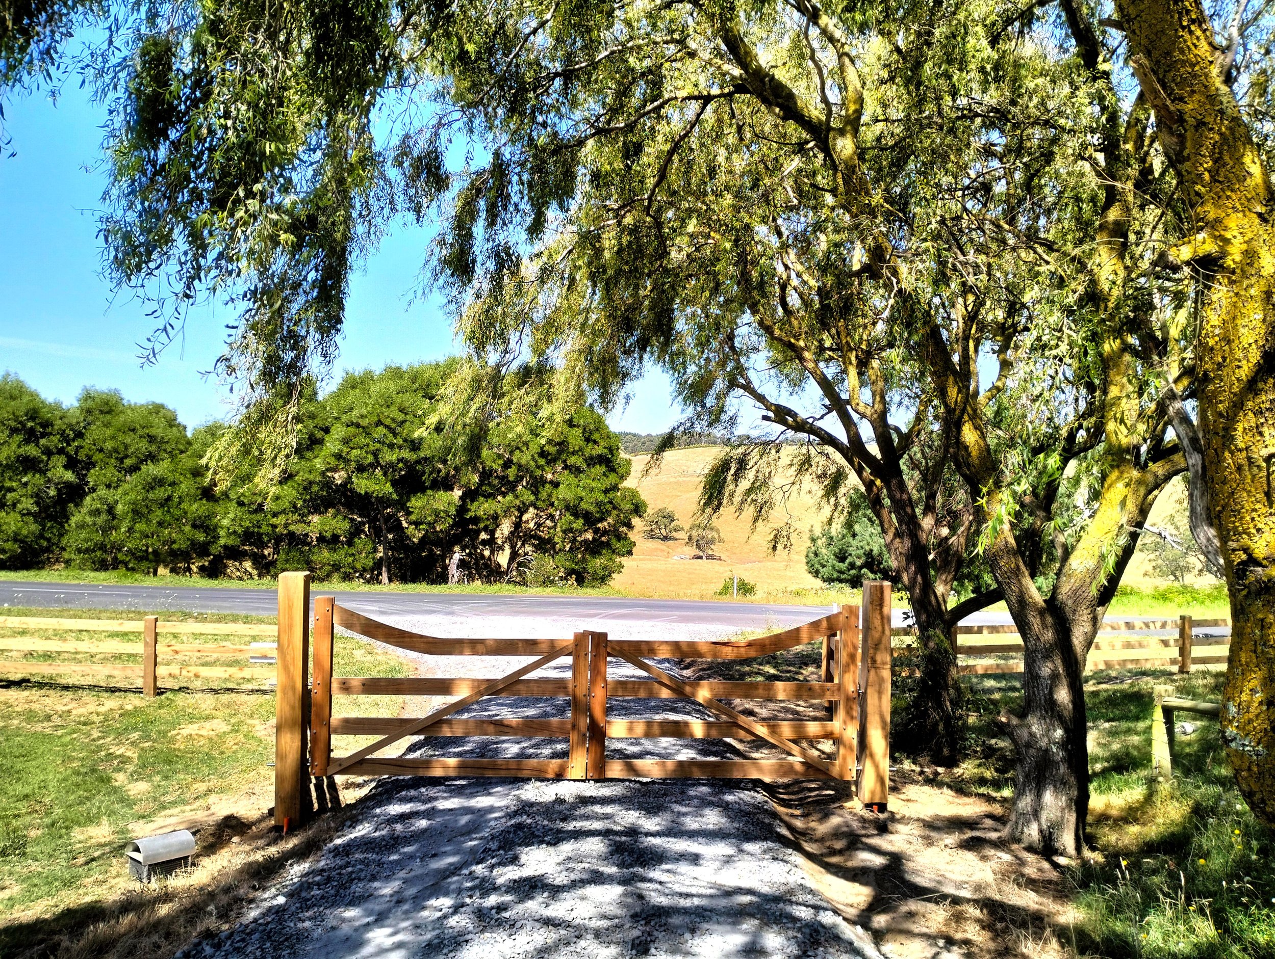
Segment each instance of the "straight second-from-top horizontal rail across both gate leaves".
M561 642L561 641L560 641ZM479 689L483 679L431 679L423 676L334 676L332 692L338 695L458 695ZM838 695L835 683L691 683L691 688L722 699L833 699ZM570 680L523 679L511 683L497 697L555 697L570 695ZM649 699L680 699L658 683L641 679L613 679L607 684L611 697L639 697Z

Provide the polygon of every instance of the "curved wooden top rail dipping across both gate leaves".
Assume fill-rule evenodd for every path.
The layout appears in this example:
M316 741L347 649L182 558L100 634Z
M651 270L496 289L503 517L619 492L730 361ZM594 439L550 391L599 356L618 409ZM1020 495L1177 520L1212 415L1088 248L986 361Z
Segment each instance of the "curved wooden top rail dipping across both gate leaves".
M381 623L339 604L333 605L333 623L352 633L389 646L431 656L544 656L562 639L444 639ZM821 639L841 628L834 613L811 623L752 639L612 639L612 650L631 656L674 656L686 660L748 660Z

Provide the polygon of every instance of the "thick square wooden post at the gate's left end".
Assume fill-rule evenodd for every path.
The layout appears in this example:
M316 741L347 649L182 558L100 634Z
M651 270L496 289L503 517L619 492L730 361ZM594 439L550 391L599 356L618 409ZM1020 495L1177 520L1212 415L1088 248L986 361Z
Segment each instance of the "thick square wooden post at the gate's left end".
M274 824L301 823L306 763L310 573L279 574L278 685L274 694Z

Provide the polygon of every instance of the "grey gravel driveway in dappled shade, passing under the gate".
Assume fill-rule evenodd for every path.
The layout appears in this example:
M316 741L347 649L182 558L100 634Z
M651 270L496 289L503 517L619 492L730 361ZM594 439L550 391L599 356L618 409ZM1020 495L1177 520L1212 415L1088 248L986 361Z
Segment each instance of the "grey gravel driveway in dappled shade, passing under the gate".
M580 622L395 618L444 636L560 636ZM437 630L437 632L435 632ZM720 636L609 623L613 638ZM515 657L418 657L425 675L501 675ZM613 676L622 674L611 661ZM537 676L565 675L560 660ZM566 716L565 699L487 699L460 716ZM615 716L705 717L612 699ZM419 714L419 713L417 713ZM425 739L408 755L558 758L566 740ZM714 740L612 740L608 755L727 758ZM713 779L385 778L319 856L232 930L182 956L880 956L812 888L766 797Z

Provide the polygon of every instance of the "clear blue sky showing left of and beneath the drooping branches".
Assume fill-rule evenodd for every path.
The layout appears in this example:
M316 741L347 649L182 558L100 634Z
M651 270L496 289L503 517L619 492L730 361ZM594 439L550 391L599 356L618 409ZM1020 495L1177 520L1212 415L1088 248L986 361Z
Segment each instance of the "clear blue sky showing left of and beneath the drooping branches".
M159 364L143 367L138 344L154 327L147 307L127 292L116 295L101 276L105 176L96 164L105 110L75 83L56 106L37 94L10 99L4 110L17 155L0 157L0 371L62 402L97 386L164 402L187 425L228 415L226 390L207 372L233 312L200 308ZM338 373L456 352L439 302L412 299L427 238L421 228L398 229L354 276ZM654 433L678 415L668 381L655 372L608 419L617 429Z

